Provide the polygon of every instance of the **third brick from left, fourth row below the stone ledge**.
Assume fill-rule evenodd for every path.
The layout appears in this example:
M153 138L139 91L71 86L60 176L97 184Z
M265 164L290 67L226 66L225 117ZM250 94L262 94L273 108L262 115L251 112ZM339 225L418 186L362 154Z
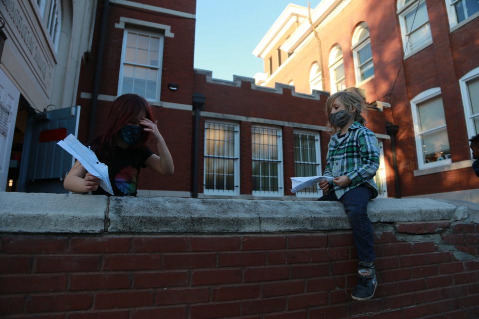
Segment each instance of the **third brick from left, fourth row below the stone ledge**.
M95 296L95 309L148 307L152 305L153 294L151 292L99 293Z

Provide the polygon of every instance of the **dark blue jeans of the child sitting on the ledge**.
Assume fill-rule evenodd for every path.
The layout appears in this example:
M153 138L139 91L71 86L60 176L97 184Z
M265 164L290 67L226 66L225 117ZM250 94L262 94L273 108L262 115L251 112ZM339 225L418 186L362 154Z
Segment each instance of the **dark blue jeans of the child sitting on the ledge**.
M371 189L363 184L350 189L340 199L334 191L318 199L318 201L339 201L344 205L344 210L353 227L359 261L364 263L373 262L375 259L373 227L368 217L368 201L372 194Z

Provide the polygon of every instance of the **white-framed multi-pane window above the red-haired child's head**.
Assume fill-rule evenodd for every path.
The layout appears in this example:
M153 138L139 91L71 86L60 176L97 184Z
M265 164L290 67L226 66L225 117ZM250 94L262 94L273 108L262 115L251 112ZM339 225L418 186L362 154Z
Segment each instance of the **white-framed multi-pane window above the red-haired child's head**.
M164 35L125 29L121 52L118 95L135 93L160 101Z

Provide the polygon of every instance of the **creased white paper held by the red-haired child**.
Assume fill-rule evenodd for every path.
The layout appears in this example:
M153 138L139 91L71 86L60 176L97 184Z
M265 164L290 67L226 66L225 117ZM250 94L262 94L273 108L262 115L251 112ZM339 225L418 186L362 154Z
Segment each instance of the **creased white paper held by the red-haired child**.
M101 163L91 149L81 144L72 134L68 135L57 144L76 158L88 173L98 177L100 179L101 188L113 195L113 188L111 187L110 178L108 176L108 166Z

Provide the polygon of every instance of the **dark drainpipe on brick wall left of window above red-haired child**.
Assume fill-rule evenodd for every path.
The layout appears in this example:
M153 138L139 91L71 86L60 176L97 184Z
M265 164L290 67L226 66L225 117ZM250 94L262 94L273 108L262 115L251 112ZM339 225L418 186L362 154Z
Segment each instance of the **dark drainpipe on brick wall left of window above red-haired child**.
M98 90L100 88L101 62L103 59L103 47L105 46L106 23L108 22L108 8L110 0L103 1L103 11L101 14L100 35L98 38L98 51L96 54L95 75L93 78L93 91L91 93L90 106L90 127L88 131L88 140L95 137L96 106L98 104Z

